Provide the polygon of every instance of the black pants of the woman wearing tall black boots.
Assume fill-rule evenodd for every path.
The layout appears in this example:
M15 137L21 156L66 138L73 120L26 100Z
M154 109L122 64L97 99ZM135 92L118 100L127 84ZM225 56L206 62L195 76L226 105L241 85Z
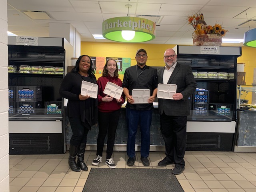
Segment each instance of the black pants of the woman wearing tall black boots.
M81 143L86 143L89 129L82 125L82 121L80 120L80 118L68 117L68 120L70 122L72 130L72 137L69 143L73 146L78 146Z

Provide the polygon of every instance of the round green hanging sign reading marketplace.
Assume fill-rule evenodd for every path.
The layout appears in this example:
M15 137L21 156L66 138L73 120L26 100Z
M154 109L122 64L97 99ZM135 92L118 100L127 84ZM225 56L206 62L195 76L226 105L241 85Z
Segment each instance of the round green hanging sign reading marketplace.
M135 31L132 40L125 40L122 31ZM146 42L156 37L156 24L148 19L139 17L114 17L102 23L104 38L117 42Z

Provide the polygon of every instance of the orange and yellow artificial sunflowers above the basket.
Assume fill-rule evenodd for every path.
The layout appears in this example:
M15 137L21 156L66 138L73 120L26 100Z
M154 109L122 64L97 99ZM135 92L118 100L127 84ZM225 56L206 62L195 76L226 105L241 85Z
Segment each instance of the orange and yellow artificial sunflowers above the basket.
M222 25L215 24L214 26L206 25L204 21L204 15L201 13L196 13L192 16L188 16L188 24L191 25L195 31L194 33L197 35L202 34L216 34L220 36L225 36L228 30L222 28Z

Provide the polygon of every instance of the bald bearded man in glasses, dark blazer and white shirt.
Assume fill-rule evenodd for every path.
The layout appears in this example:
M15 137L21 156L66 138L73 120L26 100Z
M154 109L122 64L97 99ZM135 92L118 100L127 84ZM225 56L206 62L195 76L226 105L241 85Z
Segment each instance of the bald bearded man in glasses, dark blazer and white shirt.
M165 142L166 157L158 166L175 164L172 174L181 174L185 169L187 116L190 114L188 97L196 90L196 81L191 66L177 63L173 49L164 52L164 68L158 70L158 83L176 84L173 99L158 99L161 132Z

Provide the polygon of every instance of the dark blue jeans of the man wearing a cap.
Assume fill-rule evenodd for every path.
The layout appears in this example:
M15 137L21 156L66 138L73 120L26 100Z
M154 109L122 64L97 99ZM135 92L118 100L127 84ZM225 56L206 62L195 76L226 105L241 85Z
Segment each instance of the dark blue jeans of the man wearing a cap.
M128 127L127 155L135 156L135 136L140 124L141 145L140 155L148 157L150 148L150 125L152 120L152 110L139 111L126 108L126 121Z

